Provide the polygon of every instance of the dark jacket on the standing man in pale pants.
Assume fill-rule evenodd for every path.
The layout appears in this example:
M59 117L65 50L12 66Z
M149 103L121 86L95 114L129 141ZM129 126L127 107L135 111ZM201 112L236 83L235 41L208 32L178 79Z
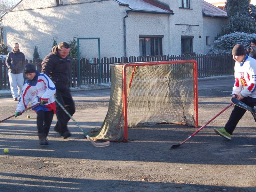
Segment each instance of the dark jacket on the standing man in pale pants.
M9 52L7 54L5 65L7 66L10 73L19 74L23 73L25 62L25 55L20 52L20 50L18 50L17 52L12 50L12 52Z

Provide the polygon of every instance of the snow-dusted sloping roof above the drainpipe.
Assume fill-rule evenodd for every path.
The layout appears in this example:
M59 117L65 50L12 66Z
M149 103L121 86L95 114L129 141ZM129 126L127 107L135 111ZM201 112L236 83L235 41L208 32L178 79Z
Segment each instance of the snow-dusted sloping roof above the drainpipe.
M153 0L114 0L120 5L128 6L132 11L156 12L156 13L172 13L169 7L157 3Z

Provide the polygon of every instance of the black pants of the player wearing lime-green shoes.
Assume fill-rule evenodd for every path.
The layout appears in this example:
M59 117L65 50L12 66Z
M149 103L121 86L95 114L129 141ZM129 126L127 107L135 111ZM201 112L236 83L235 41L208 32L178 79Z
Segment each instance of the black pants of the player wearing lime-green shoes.
M252 108L254 108L254 106L256 106L256 98L244 97L244 99L242 99L241 101ZM235 107L228 119L228 122L224 127L229 134L232 135L233 131L236 128L236 125L238 124L239 120L242 118L242 116L244 115L245 112L246 112L245 109L237 107L235 105ZM252 113L252 116L254 117L254 120L256 122L255 114Z

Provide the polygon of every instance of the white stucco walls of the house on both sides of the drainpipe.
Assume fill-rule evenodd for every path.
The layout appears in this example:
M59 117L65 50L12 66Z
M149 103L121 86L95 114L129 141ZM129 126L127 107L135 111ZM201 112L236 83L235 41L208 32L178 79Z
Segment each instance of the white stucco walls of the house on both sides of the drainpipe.
M26 10L7 12L3 17L4 44L11 46L19 42L20 51L31 60L35 46L43 59L51 51L53 38L60 43L71 41L73 37L100 37L101 57L124 56L123 19L129 8L112 0L91 3L80 0L86 3L71 4L78 1L63 0L63 4L69 5L51 7L49 5L55 0L45 0L46 8L30 10L29 7L42 3L21 1L15 9ZM207 22L203 23L202 1L191 1L190 9L179 8L177 0L159 2L169 4L175 14L129 12L126 18L127 56L139 56L139 35L163 35L163 54L176 55L181 54L181 36L194 36L193 52L205 53L203 31L207 29ZM82 57L98 57L98 41L80 40L80 52Z

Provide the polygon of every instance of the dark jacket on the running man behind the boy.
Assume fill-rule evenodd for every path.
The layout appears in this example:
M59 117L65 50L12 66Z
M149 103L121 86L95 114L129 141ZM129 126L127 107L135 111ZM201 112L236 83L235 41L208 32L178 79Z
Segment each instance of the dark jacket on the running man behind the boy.
M50 77L57 91L69 90L70 57L67 56L62 59L58 53L57 45L52 47L52 52L44 58L41 65L41 73Z

